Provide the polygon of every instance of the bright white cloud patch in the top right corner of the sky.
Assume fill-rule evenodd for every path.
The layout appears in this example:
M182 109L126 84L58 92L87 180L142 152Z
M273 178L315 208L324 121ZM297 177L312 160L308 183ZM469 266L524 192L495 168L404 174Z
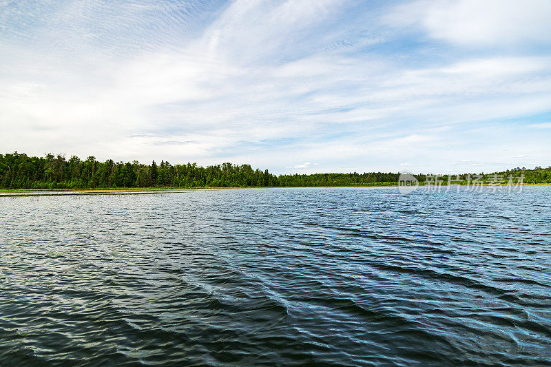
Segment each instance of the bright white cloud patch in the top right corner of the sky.
M385 17L391 25L426 30L459 45L551 43L551 2L547 0L415 1Z

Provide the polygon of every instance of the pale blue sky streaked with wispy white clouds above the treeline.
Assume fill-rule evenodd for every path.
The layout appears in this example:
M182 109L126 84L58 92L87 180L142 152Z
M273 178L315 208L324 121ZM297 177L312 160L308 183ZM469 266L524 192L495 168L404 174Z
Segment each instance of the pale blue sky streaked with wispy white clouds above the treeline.
M548 167L550 19L550 0L0 0L0 153Z

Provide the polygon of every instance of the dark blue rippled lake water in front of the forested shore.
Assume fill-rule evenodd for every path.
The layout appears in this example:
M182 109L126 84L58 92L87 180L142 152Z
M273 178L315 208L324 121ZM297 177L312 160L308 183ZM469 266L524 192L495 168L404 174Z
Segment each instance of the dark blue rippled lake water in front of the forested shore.
M0 197L0 365L551 365L551 187Z

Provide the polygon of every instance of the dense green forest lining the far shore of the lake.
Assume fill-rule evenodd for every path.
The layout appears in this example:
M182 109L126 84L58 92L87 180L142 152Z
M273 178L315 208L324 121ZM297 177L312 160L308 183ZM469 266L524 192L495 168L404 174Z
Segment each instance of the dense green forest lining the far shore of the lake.
M525 183L551 183L551 167L516 168L479 176L482 182L506 183L508 177L524 176ZM426 176L415 175L420 182ZM465 184L468 174L450 176L453 183ZM100 162L90 156L81 160L59 154L32 157L26 154L0 154L0 189L110 189L132 187L329 187L397 185L399 174L368 172L358 174L274 175L250 165L211 165L196 163L171 165L161 160L144 165L137 162ZM446 185L448 176L439 180Z

